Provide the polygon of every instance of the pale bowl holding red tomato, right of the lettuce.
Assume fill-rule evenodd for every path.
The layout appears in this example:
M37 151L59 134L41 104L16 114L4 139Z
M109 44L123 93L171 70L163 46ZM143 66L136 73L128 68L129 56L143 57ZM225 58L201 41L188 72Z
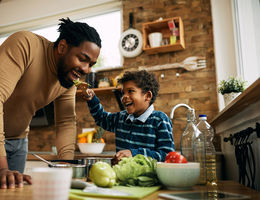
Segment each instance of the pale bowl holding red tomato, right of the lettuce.
M197 184L200 177L200 163L157 162L157 176L162 185L171 190L188 190Z

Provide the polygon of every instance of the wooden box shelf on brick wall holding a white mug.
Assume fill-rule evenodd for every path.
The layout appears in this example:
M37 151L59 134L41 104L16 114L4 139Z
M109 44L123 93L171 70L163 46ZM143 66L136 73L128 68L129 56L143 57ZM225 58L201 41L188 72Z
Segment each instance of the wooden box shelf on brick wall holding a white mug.
M163 38L169 39L172 33L168 27L168 22L171 20L174 20L176 27L179 29L179 36L176 43L151 48L148 40L148 35L153 32L161 32L163 34ZM143 50L148 54L180 51L183 49L185 49L184 28L182 19L180 17L157 20L143 24Z

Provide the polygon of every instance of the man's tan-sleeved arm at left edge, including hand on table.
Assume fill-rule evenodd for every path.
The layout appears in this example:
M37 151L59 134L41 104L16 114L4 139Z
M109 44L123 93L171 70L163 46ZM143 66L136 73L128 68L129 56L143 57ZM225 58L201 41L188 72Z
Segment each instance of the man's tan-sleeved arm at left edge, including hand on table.
M11 96L25 70L28 40L23 32L11 35L0 46L0 188L13 188L23 186L23 179L31 183L30 176L17 171L8 170L5 151L4 113L3 104ZM7 134L7 133L6 133Z

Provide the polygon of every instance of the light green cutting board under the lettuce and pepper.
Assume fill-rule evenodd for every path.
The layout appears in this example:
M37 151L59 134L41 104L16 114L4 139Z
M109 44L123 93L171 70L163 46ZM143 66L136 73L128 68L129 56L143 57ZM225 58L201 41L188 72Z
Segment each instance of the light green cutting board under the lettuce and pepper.
M129 195L108 195L83 192L80 189L70 189L70 200L87 200L92 198L87 197L103 197L103 198L115 198L115 199L142 199L147 195L150 195L160 189L161 186L153 187L127 187L127 186L114 186L112 190L128 193Z

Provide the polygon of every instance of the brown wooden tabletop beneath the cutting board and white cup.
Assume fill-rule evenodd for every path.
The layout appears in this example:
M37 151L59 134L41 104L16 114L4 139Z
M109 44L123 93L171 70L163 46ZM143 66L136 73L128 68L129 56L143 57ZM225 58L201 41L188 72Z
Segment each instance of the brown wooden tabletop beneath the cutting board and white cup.
M225 191L237 194L243 194L247 196L251 196L251 199L259 200L260 199L260 192L252 190L244 185L241 185L234 181L219 181L218 182L218 191ZM209 187L207 186L199 186L196 185L192 188L192 190L186 191L207 191ZM143 200L162 200L163 198L159 198L159 193L176 193L176 192L183 192L183 191L173 191L173 190L159 190L145 198ZM23 188L16 188L16 189L0 189L0 199L1 200L32 200L32 186L25 185ZM100 199L100 198L98 198ZM107 198L108 199L108 198ZM111 198L109 198L111 200Z

